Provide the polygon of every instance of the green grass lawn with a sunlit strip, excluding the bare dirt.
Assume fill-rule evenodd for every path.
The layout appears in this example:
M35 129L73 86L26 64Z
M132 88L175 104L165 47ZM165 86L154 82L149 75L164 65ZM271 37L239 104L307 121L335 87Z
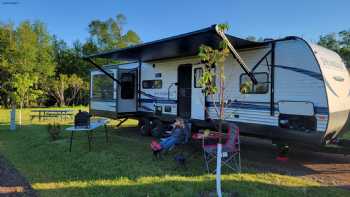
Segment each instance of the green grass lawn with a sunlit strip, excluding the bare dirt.
M75 108L76 110L79 109ZM0 154L5 156L32 184L40 196L198 196L215 190L215 177L203 170L201 155L189 161L188 169L176 169L172 154L154 161L150 137L141 137L130 120L123 128L111 129L105 142L101 128L88 152L85 133L76 135L70 153L69 133L50 141L46 122L30 122L9 131L9 111L0 110ZM61 122L61 121L58 121ZM72 120L61 122L64 126ZM261 173L244 168L243 173L225 172L223 190L240 196L350 196L350 192L316 182Z

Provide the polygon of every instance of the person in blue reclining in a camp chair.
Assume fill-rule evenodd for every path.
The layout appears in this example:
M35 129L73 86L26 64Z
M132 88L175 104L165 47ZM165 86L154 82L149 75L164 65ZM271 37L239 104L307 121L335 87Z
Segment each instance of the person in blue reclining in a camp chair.
M184 140L184 128L185 128L185 124L183 119L176 118L171 135L169 137L161 139L161 142L159 143L160 147L158 146L158 149L168 150L171 147L173 147L175 144L181 143ZM155 144L155 142L152 142L152 144ZM152 149L157 149L157 146L155 145L154 146L155 148L153 148L152 144L151 144Z

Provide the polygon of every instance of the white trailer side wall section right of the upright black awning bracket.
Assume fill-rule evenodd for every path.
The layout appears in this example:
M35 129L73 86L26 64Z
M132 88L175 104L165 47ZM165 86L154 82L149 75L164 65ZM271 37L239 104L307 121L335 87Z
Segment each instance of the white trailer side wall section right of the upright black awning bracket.
M328 103L324 80L313 51L301 39L276 43L276 102L311 102L317 119L317 131L325 132Z

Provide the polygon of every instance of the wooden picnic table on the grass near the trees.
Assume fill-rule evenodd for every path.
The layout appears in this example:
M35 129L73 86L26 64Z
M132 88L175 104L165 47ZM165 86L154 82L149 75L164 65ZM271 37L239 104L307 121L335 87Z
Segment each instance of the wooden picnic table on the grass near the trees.
M73 115L73 110L69 109L35 109L31 110L31 120L38 118L41 121L43 118L63 118L67 119Z

